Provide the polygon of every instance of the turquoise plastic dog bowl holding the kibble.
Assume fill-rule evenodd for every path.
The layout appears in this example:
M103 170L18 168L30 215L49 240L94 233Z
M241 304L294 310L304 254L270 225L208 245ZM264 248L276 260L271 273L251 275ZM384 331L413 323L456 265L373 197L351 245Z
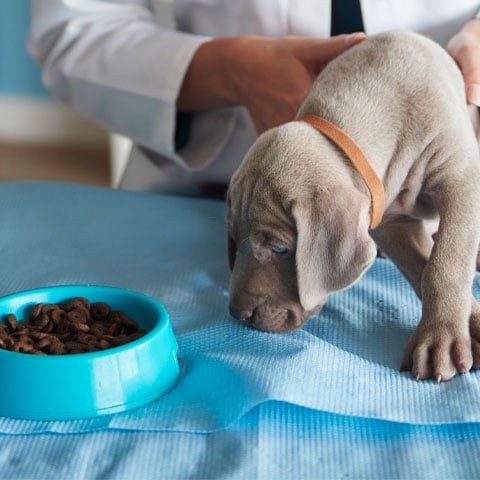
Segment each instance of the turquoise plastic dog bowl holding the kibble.
M177 341L165 308L153 298L121 288L53 286L0 298L0 316L29 317L37 303L74 297L106 302L147 333L106 350L34 355L0 349L0 416L69 420L122 412L151 402L179 378Z

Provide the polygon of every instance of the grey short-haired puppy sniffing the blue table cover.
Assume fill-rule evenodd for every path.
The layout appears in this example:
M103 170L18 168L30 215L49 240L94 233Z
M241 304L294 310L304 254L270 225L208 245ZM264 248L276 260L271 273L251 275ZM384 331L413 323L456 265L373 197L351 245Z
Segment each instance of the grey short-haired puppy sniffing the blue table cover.
M324 69L298 114L361 147L383 183L383 216L369 227L364 179L310 124L265 132L227 194L232 315L265 331L301 327L362 276L378 245L422 300L401 369L441 382L479 368L479 147L454 61L411 32L372 36Z

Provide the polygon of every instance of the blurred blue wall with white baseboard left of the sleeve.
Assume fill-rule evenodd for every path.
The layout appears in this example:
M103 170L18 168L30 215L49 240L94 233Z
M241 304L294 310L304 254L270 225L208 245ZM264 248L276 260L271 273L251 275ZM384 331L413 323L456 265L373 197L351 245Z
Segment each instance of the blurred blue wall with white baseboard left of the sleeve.
M0 142L106 145L108 135L54 101L27 53L30 0L0 0Z

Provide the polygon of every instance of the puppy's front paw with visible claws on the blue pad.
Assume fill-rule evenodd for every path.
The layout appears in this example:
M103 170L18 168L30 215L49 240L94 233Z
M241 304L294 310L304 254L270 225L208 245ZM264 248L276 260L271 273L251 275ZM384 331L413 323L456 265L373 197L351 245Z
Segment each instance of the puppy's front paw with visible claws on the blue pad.
M420 325L410 338L401 371L411 371L416 380L434 378L437 383L450 380L455 373L472 368L470 336L455 326Z

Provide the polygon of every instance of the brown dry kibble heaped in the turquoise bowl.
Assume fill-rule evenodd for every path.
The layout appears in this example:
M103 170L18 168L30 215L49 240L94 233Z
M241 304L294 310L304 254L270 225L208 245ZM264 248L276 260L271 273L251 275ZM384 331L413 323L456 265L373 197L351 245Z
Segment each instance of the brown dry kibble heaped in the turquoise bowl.
M120 310L86 298L36 304L30 317L0 322L0 348L37 355L96 352L129 343L146 331Z

